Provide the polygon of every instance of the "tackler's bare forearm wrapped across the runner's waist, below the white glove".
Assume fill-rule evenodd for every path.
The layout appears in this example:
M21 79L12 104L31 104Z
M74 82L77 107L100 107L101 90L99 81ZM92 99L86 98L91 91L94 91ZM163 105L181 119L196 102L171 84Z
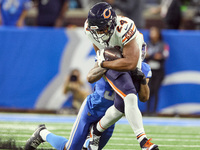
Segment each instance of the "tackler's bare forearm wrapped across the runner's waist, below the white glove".
M87 75L87 80L89 83L94 83L96 81L98 81L103 74L106 72L107 69L105 68L100 68L98 66L94 67L93 69L91 69Z

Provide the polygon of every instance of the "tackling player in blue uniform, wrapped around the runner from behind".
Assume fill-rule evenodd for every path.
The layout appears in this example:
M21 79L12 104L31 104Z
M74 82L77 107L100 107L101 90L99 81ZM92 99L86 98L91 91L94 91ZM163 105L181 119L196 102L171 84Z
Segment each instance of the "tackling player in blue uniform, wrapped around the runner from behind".
M81 150L88 136L90 126L93 123L98 122L105 115L106 110L109 107L112 107L114 103L115 92L105 79L104 73L106 73L106 71L107 69L98 67L96 63L94 68L88 73L88 81L90 83L96 82L94 91L83 102L68 140L62 136L51 133L46 129L45 125L40 125L27 140L25 150L36 149L42 142L48 142L58 150ZM135 72L134 82L137 82L136 78L141 75L144 77L145 74L146 78L144 77L143 81L146 80L148 83L148 80L151 77L150 67L146 63L143 63L142 71L143 73L140 70ZM139 84L140 82L141 81L139 81ZM138 95L141 101L148 100L148 85L143 85L141 83L138 88ZM123 114L121 116L123 116ZM102 149L106 145L112 136L113 130L114 125L102 133L99 149Z

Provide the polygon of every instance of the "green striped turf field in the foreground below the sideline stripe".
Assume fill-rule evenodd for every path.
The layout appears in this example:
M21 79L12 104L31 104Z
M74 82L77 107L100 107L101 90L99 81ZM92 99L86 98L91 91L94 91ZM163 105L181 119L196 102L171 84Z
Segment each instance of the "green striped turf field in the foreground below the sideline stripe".
M39 123L0 121L1 141L14 139L23 147ZM69 137L72 123L46 123L47 128L60 136ZM200 150L200 127L145 126L146 134L160 150ZM38 149L53 149L48 143ZM104 150L140 150L139 144L127 124L117 124L115 132Z

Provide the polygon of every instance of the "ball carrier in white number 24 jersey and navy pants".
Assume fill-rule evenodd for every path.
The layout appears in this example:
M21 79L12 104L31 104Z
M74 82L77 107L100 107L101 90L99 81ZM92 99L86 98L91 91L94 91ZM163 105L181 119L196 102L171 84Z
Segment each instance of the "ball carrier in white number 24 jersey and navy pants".
M123 113L131 125L142 150L158 150L158 146L147 139L143 128L142 115L138 108L137 90L132 81L132 71L141 69L143 35L134 22L127 17L117 16L106 2L94 5L84 25L85 33L93 43L99 67L107 68L106 79L117 93L114 106L91 128L90 150L98 150L101 134ZM116 47L123 58L105 61L104 48ZM146 84L146 83L144 83Z

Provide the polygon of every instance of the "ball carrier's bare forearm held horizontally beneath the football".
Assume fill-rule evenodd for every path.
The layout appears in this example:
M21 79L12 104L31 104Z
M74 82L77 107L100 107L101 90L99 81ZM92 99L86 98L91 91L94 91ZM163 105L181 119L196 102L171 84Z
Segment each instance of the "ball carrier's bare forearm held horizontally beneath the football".
M114 61L104 61L102 67L116 71L131 71L137 67L137 61L134 59L127 60L126 58L121 58Z

